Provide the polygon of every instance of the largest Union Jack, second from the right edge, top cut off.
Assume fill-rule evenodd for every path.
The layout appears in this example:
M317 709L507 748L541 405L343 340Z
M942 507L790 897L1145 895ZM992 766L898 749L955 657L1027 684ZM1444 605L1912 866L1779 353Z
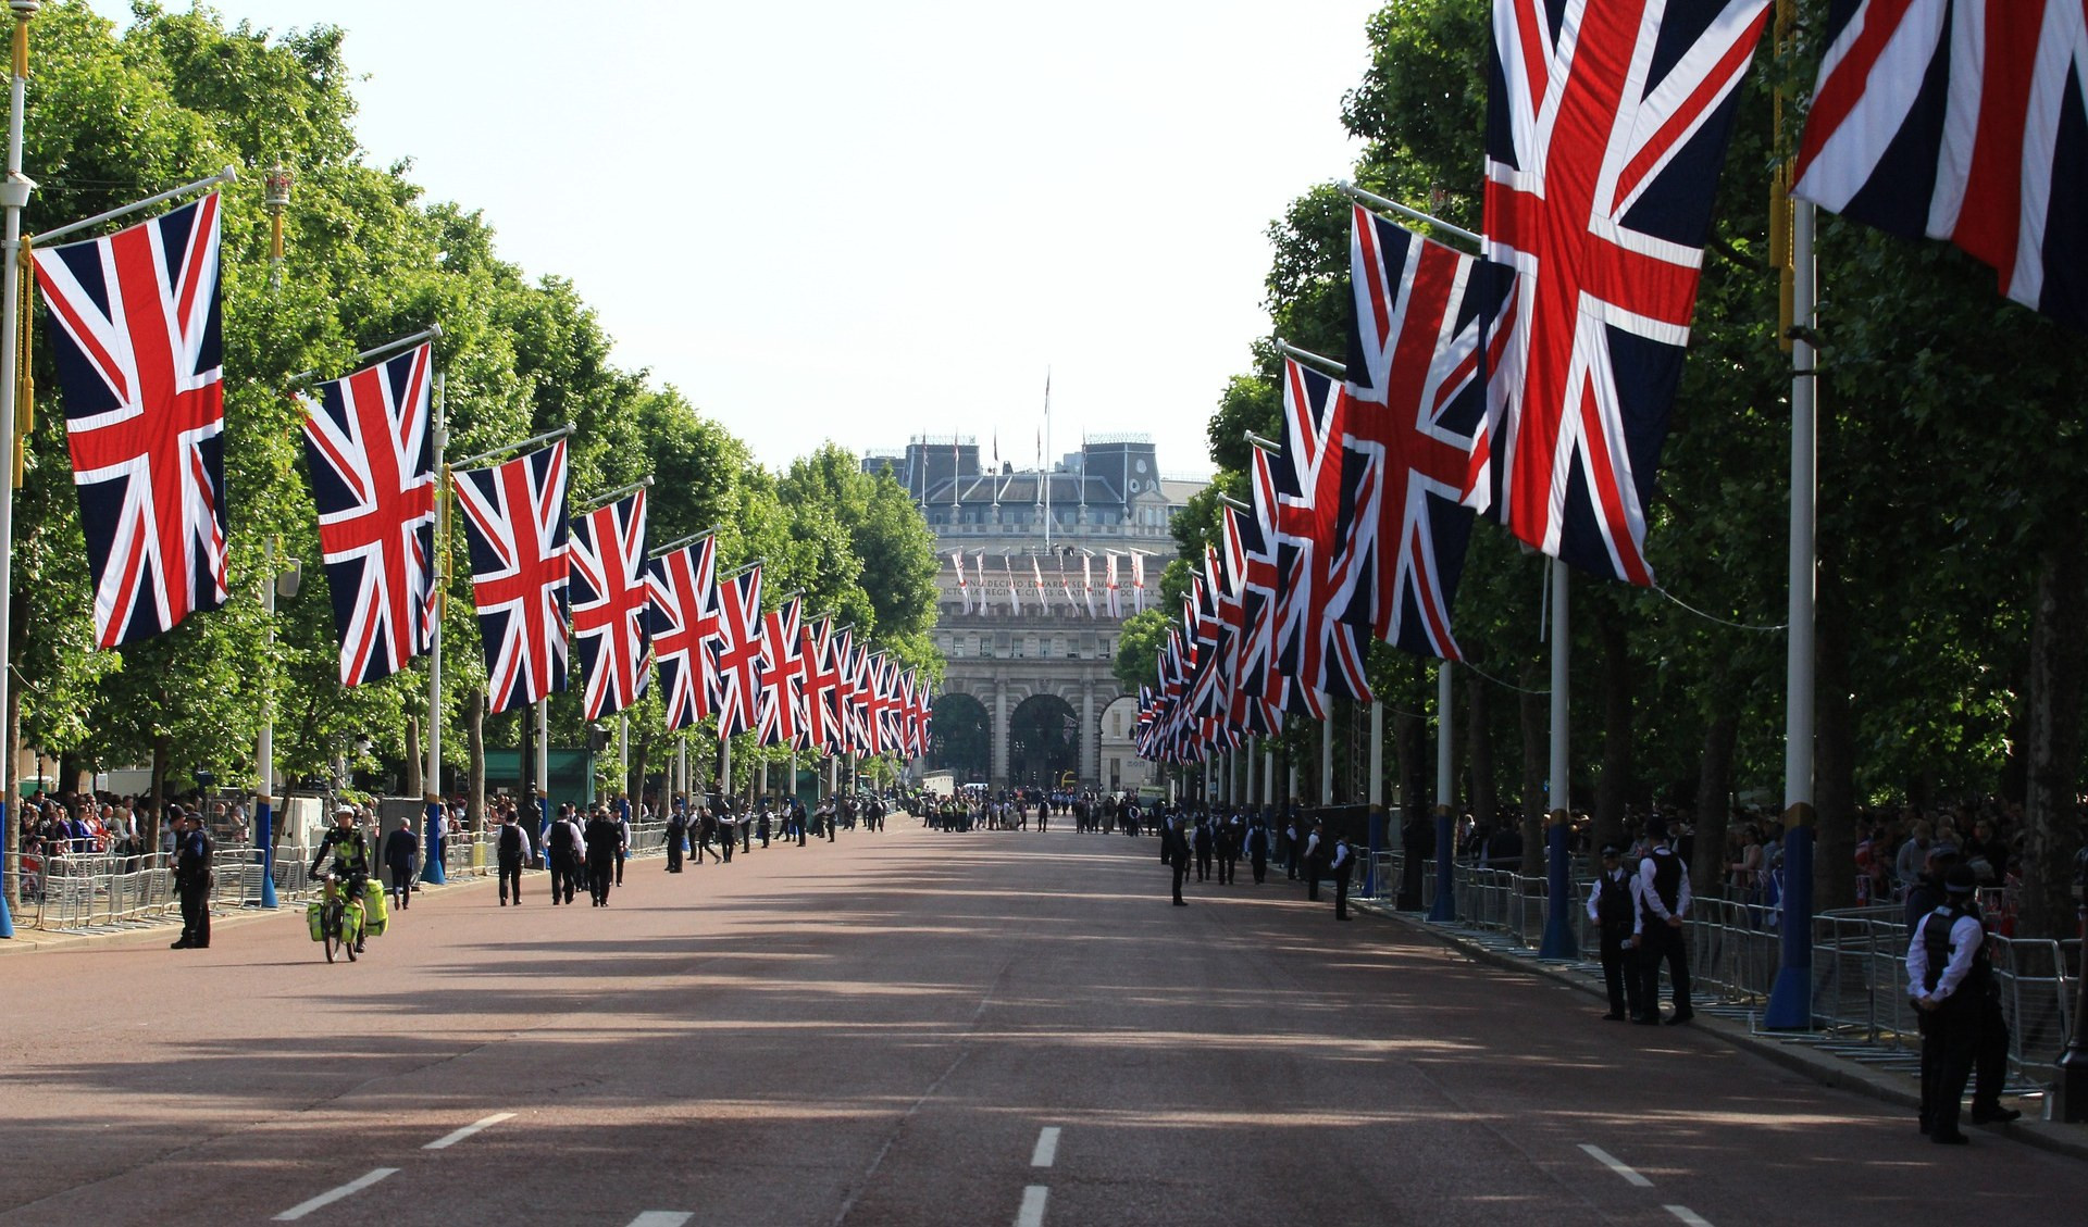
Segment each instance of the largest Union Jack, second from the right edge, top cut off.
M1516 271L1480 440L1522 540L1652 584L1645 503L1733 96L1769 0L1495 0L1487 242Z

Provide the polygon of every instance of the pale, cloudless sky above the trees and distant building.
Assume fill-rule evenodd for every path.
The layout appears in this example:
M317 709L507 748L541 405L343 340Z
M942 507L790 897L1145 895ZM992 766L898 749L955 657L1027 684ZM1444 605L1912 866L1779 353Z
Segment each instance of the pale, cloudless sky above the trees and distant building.
M1355 161L1380 2L217 8L347 29L367 161L482 209L768 465L919 432L1027 465L1048 369L1054 453L1138 430L1205 474L1267 328L1263 232Z

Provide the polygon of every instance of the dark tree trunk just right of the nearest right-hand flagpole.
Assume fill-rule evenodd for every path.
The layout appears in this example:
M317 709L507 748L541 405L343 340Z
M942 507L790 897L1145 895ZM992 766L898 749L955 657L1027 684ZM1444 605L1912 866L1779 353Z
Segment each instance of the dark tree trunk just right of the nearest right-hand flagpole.
M1848 680L1850 609L1842 576L1821 553L1819 607L1812 630L1812 910L1856 904L1856 724Z

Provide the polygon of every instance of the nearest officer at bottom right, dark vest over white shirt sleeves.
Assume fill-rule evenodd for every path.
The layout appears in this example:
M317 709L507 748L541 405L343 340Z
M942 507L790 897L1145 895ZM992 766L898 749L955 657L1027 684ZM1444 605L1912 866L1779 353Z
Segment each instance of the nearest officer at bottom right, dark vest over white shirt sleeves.
M2009 1075L2009 1020L1986 954L1979 876L1969 866L1944 874L1944 904L1921 918L1906 943L1906 995L1921 1010L1921 1131L1929 1141L1963 1146L1959 1102L1971 1093L1971 1123L2021 1116L2000 1106Z

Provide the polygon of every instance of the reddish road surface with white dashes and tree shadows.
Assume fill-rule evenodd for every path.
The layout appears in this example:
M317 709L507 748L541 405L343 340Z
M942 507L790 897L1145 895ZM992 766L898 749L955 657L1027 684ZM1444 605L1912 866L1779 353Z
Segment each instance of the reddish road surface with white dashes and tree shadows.
M2088 1164L1821 1089L1155 839L885 835L610 908L430 891L0 960L0 1225L2088 1221Z

